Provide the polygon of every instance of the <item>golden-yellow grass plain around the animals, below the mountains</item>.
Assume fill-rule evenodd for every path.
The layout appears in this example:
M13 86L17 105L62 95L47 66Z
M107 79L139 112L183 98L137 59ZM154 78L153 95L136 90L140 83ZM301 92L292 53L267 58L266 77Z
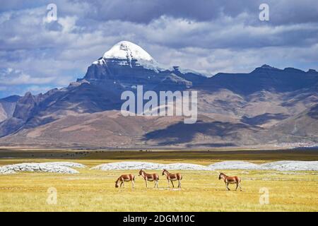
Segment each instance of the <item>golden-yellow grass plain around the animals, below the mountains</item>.
M0 157L4 157L6 152ZM42 153L42 152L41 152ZM93 167L120 159L148 162L189 162L208 165L229 157L213 153L189 152L178 155L175 152L94 152L77 153L75 156L61 155L65 152L46 153L48 157L35 157L33 152L23 152L15 158L1 158L0 165L20 162L71 161ZM146 154L146 155L144 155ZM230 159L250 162L269 162L257 158L262 154L241 156L231 155ZM290 158L290 153L273 154L275 160ZM317 160L315 153L298 153L299 158ZM29 156L29 157L28 157ZM116 157L117 156L117 157ZM130 158L129 158L130 156ZM145 157L146 156L146 157ZM148 156L148 157L147 157ZM234 159L232 159L234 158ZM183 174L182 189L167 189L167 180L160 174L159 189L153 189L149 182L146 189L138 170L100 171L77 169L80 174L52 174L23 172L0 175L0 211L318 211L318 173L317 172L278 172L261 170L223 170L228 175L242 178L243 191L226 191L223 181L218 180L218 172L180 171ZM115 189L114 181L120 174L136 175L135 189L126 183L124 189ZM48 204L47 189L57 189L57 204ZM259 189L269 189L269 204L259 203ZM230 185L234 189L234 185Z

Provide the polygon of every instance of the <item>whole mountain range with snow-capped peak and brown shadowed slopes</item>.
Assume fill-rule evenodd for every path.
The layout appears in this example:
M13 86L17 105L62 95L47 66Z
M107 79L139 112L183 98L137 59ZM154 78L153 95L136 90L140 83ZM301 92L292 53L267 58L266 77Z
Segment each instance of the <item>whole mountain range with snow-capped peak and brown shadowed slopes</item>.
M124 117L124 90L196 90L198 121ZM0 145L209 148L318 143L318 72L264 64L214 76L158 64L122 41L66 88L0 100Z

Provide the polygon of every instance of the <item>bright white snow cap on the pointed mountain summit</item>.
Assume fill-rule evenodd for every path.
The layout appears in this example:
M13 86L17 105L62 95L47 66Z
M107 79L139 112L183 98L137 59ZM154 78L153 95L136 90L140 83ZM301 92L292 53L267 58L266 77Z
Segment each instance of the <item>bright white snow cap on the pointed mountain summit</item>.
M155 62L155 59L151 57L148 52L139 47L138 45L122 41L115 44L110 50L105 52L103 59L126 59L131 61L136 59L137 61L149 61Z

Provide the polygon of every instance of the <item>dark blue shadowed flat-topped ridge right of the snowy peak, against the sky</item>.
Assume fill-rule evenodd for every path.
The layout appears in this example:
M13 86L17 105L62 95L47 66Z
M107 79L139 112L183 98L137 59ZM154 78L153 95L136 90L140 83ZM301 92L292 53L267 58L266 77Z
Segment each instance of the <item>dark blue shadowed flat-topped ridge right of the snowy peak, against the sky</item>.
M310 88L318 84L318 73L293 69L276 69L264 64L250 73L217 73L208 78L198 88L204 90L225 88L242 95L250 95L259 90L273 90L278 93Z

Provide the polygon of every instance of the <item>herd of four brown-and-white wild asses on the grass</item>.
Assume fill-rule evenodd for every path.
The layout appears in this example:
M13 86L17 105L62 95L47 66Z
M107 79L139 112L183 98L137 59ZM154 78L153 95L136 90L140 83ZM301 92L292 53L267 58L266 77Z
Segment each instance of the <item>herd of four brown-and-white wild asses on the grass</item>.
M172 184L172 187L175 187L173 182L178 181L178 188L181 189L181 180L182 180L182 174L179 172L176 174L172 174L167 171L167 169L163 169L163 174L167 178L167 183L168 187L170 187L170 182ZM146 188L148 188L148 182L155 182L155 188L158 188L158 180L159 180L159 175L154 173L154 174L147 174L143 169L139 171L139 176L143 177L143 179L146 182ZM237 190L237 187L240 187L240 191L242 191L242 187L240 186L241 179L240 177L234 176L234 177L229 177L223 172L220 172L218 175L218 179L223 179L225 182L226 189L230 191L228 184L236 184L235 191ZM135 176L134 174L123 174L120 177L118 177L117 181L115 182L115 187L124 187L124 182L131 182L132 187L134 188L135 185ZM119 184L120 183L120 184Z

